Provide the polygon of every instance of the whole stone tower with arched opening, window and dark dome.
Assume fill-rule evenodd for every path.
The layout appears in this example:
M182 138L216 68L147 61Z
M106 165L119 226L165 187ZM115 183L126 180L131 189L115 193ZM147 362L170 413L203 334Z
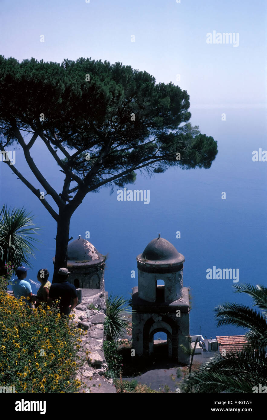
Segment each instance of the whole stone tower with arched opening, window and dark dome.
M166 239L153 239L142 254L137 255L138 286L132 289L132 348L136 356L151 357L156 353L154 334L164 332L165 354L185 364L188 348L189 297L183 287L185 257ZM164 282L164 285L158 282ZM164 347L162 346L162 347Z

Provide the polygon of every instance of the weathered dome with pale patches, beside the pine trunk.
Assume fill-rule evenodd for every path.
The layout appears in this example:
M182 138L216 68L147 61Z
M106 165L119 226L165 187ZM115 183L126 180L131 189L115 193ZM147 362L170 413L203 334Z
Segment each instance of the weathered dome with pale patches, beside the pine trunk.
M81 236L68 245L68 265L72 262L94 265L104 260L103 255L98 252L93 244L81 238Z

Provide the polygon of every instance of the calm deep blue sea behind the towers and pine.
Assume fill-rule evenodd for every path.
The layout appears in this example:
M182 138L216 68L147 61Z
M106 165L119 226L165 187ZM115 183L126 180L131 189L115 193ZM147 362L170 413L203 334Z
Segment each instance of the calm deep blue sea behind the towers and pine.
M214 307L223 302L250 304L251 300L233 293L233 280L207 280L206 270L213 266L235 268L239 269L239 284L266 284L267 162L252 161L254 150L267 150L266 110L190 111L191 123L218 142L219 153L211 168L172 168L151 178L139 174L135 185L127 188L149 189L148 205L118 201L117 188L114 194L109 188L90 193L72 217L70 236L85 238L85 232L90 231L89 241L99 252L108 254L106 290L129 299L132 287L137 285L136 256L160 233L185 256L184 286L190 286L193 296L190 333L198 334L201 328L201 334L208 338L243 334L242 328L217 328ZM226 121L222 121L222 113L226 113ZM41 141L32 156L60 193L63 174ZM24 176L29 175L19 149L16 166ZM31 260L33 269L28 271L28 278L36 281L39 268L48 268L52 276L56 223L7 165L0 164L0 173L1 203L24 206L41 227L39 251ZM221 198L222 192L226 199ZM176 239L177 231L181 232L180 239ZM131 278L132 270L136 278Z

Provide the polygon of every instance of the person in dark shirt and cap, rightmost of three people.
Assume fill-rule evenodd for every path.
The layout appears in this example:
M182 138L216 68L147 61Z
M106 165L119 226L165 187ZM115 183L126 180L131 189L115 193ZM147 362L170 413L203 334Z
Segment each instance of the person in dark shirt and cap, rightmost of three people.
M48 305L51 306L53 301L60 299L59 310L64 315L69 315L78 304L76 288L67 281L69 274L67 268L60 268L58 270L58 283L51 284L48 294ZM72 305L71 299L73 299Z

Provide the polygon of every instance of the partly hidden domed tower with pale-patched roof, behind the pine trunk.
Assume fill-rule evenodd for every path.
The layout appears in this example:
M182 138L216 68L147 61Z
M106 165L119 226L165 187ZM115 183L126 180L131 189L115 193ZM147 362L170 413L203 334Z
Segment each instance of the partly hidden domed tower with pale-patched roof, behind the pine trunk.
M68 245L68 281L76 289L105 290L104 269L106 257L86 239L79 238Z

